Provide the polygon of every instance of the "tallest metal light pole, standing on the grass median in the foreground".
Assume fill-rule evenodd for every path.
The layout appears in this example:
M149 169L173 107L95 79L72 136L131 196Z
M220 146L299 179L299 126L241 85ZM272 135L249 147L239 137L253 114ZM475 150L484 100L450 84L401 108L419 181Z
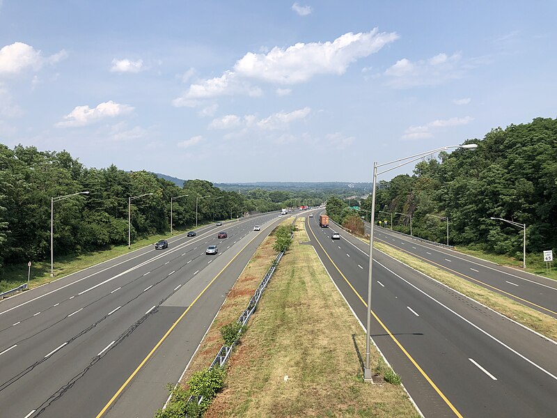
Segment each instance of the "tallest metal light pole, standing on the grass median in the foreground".
M367 312L367 324L366 324L366 364L363 369L363 380L366 382L372 382L371 378L371 368L370 368L370 328L371 328L371 284L372 284L372 265L373 265L373 226L375 224L375 185L377 183L377 176L379 174L386 173L387 171L391 171L397 169L400 166L405 164L410 164L411 162L418 161L425 155L439 153L439 151L447 150L448 148L478 148L476 144L468 144L468 145L451 145L451 146L444 146L441 148L437 148L435 150L426 151L425 153L420 153L416 155L410 155L409 157L401 158L400 160L394 160L391 162L385 162L383 164L377 164L377 162L373 163L373 185L372 185L372 193L371 193L371 231L370 231L370 261L369 261L369 268L368 268L368 312ZM396 167L391 167L390 169L385 169L377 173L377 167L383 167L387 165L392 165L398 163Z

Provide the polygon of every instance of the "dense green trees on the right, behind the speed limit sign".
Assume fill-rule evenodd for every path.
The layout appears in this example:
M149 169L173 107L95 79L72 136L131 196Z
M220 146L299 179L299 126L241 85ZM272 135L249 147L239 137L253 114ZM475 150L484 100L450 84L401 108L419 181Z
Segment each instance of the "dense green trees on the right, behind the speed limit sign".
M522 229L491 219L498 217L526 224L526 251L532 257L539 259L543 250L555 250L557 119L535 118L531 123L499 127L466 144L478 148L440 153L438 158L418 162L412 176L379 180L376 221L389 226L392 214L394 229L409 233L411 215L414 235L444 243L448 217L450 245L521 260ZM361 200L362 212L340 199L329 199L327 212L329 202L337 222L355 213L369 219L371 196Z

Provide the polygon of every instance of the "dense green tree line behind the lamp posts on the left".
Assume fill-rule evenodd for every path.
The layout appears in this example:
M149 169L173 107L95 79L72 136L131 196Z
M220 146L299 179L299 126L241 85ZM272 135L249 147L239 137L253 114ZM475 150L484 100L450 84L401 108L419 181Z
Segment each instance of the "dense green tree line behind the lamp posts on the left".
M79 192L88 194L54 203L57 256L126 244L132 196L149 194L131 201L132 241L170 231L171 206L173 228L185 229L196 224L196 200L202 223L284 204L272 201L269 192L226 192L207 180L180 187L147 171L87 168L66 151L0 144L0 273L1 265L49 258L51 199ZM182 197L171 205L176 196Z

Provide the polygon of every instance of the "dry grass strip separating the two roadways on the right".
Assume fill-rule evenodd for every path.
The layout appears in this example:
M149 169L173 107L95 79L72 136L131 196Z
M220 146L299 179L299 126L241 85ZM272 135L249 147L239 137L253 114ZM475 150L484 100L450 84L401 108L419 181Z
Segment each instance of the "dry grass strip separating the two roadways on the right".
M509 297L500 295L494 291L489 291L487 288L483 288L480 285L473 284L466 279L457 277L455 274L451 274L440 268L434 267L425 261L421 261L414 256L410 256L402 251L398 251L389 245L385 245L382 242L375 242L375 248L379 251L383 251L385 254L389 254L393 258L402 261L409 265L411 268L427 274L427 276L432 277L441 283L446 284L450 288L459 291L464 295L471 297L473 300L485 304L487 307L494 309L494 311L499 312L510 318L516 320L518 323L525 325L532 330L539 332L540 334L547 336L550 339L557 340L557 320L551 316L542 314L540 311L536 311L524 304L515 302L515 300Z

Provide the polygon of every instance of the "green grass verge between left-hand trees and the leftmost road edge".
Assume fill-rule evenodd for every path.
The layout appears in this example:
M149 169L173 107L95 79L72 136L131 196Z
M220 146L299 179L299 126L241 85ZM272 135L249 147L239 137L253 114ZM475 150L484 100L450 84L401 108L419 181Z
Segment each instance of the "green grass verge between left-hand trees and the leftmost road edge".
M208 222L207 224L212 224ZM203 226L199 224L198 228ZM175 235L191 231L188 229L174 229ZM73 254L70 256L58 256L54 258L54 278L50 277L50 259L45 261L32 261L31 264L31 280L29 281L29 288L40 286L49 283L54 279L67 276L84 268L91 267L92 265L102 263L103 261L110 260L128 254L135 249L148 247L155 244L158 240L166 240L169 238L168 234L150 235L147 238L132 242L131 249L127 249L127 245L116 245L101 249L99 251L90 251L83 254ZM28 267L27 263L22 265L4 265L3 273L0 276L0 293L9 291L17 286L27 282Z

